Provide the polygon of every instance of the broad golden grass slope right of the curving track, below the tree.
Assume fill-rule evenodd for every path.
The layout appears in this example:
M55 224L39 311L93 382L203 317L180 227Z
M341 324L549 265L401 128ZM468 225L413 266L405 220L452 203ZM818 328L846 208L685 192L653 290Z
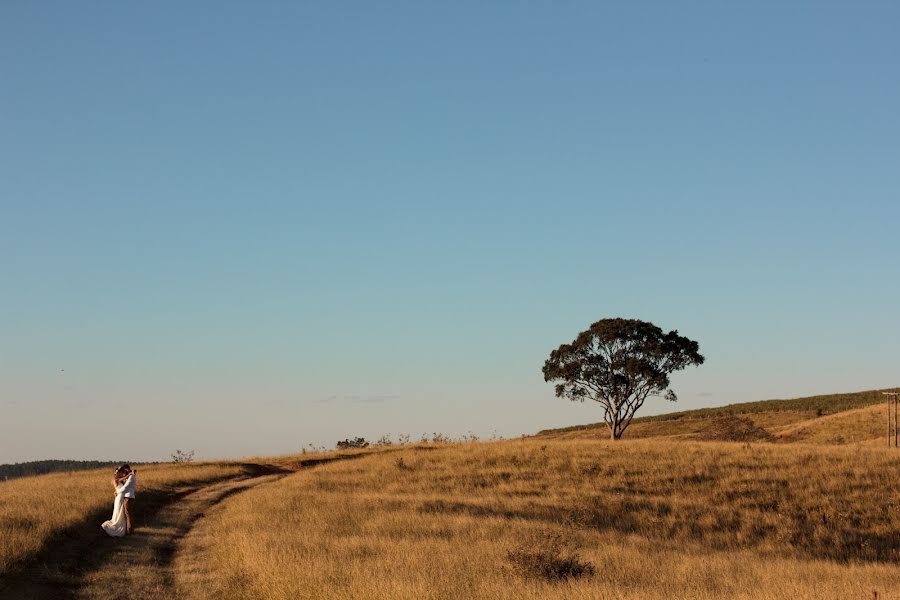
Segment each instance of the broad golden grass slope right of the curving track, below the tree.
M898 458L664 440L408 449L226 500L176 582L187 598L897 597ZM510 562L554 534L595 573L553 583Z

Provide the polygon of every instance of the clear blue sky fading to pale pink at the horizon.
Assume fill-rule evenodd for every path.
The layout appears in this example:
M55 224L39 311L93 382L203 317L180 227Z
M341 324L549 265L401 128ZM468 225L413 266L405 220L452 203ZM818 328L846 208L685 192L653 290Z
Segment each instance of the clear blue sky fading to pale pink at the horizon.
M898 6L3 2L0 462L597 421L612 316L898 385Z

